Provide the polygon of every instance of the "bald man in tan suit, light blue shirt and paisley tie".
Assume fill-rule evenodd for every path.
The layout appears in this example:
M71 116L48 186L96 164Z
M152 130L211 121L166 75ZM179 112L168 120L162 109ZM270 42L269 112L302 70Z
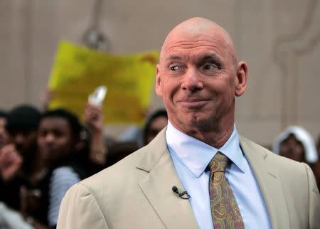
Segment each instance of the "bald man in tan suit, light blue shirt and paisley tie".
M238 134L246 87L247 64L223 28L205 18L176 26L156 66L168 126L70 188L58 228L320 228L309 166Z

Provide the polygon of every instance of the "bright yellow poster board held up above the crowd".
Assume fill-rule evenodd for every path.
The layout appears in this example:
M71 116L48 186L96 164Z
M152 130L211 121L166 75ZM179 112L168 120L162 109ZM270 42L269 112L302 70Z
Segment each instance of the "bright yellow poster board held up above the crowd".
M151 102L158 60L159 51L114 55L61 41L48 83L49 109L63 107L81 118L88 96L105 85L105 124L139 124Z

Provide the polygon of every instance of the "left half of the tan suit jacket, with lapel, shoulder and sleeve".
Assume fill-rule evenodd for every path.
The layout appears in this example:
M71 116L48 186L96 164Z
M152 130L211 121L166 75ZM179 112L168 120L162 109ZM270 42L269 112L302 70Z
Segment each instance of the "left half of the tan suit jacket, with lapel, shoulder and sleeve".
M95 220L99 229L198 228L190 203L172 186L181 183L163 131L148 146L70 188L58 228L90 228L87 222Z

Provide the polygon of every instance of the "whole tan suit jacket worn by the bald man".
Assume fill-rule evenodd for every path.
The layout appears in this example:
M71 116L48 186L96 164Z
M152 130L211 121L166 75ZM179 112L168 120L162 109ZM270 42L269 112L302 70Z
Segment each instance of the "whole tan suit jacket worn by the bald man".
M244 137L240 144L272 228L320 228L319 191L309 166ZM163 130L148 146L70 188L60 206L58 228L198 228L189 201L178 198L172 186L182 187Z

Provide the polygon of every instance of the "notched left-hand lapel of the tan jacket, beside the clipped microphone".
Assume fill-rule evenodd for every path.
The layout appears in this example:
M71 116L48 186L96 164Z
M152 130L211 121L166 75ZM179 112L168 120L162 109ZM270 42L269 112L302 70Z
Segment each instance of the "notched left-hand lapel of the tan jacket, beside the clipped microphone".
M165 130L147 146L137 168L148 172L139 186L166 228L198 228L189 201L172 191L182 185L166 148Z

